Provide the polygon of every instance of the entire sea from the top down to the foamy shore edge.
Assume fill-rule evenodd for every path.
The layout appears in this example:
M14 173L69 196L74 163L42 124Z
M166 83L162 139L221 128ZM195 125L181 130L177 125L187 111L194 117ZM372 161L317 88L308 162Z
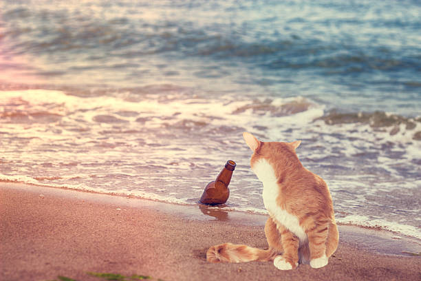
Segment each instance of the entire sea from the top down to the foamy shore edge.
M301 140L338 222L421 238L418 1L0 1L0 180L264 213Z

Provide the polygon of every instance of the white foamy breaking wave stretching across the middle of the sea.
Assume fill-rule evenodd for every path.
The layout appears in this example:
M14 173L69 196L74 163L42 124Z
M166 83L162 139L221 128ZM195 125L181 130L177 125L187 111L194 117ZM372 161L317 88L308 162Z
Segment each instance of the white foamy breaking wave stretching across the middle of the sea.
M351 135L356 128L367 125L371 134L393 137L389 141L398 141L400 136L404 136L402 141L408 141L409 135L413 141L421 140L421 117L387 112L325 112L325 105L302 96L254 99L224 96L220 100L206 100L198 96L189 98L188 89L166 84L124 89L114 94L112 90L67 92L4 91L0 97L3 105L0 117L6 123L57 123L66 120L68 114L76 114L82 118L80 122L86 122L79 127L91 122L104 123L116 127L116 132L136 131L136 124L189 131L237 132L249 128L266 132L270 127L294 129L322 121L328 126L327 131L332 131L329 126L336 126L336 130L343 132L344 125L349 125ZM135 127L131 128L132 125Z

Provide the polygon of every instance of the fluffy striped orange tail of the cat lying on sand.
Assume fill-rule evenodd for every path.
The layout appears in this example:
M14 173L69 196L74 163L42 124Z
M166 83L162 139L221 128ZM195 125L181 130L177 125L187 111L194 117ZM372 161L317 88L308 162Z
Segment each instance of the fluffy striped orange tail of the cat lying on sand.
M274 249L257 249L246 245L232 243L219 244L212 246L206 253L208 262L266 262L273 260L279 253Z

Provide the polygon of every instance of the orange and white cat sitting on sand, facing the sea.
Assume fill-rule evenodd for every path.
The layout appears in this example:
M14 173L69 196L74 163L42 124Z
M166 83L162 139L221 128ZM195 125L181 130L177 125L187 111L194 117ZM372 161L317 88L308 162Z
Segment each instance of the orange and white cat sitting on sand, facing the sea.
M305 169L295 149L301 141L263 143L243 134L252 149L250 165L263 183L263 202L270 217L265 233L269 249L231 243L208 249L208 262L269 261L278 269L299 263L324 267L338 247L332 197L320 176Z

